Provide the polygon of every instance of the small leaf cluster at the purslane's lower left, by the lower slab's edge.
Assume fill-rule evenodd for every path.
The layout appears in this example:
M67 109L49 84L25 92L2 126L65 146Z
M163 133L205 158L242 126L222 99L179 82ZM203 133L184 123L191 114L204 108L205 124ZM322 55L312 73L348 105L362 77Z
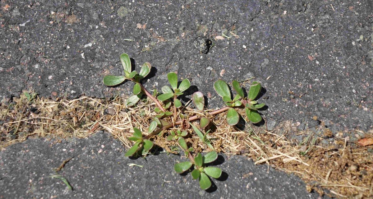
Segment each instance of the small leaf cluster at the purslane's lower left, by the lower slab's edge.
M134 155L139 149L141 150L141 153L148 152L154 145L153 142L142 137L142 133L138 128L134 128L134 136L129 137L128 139L135 141L135 144L125 154L127 157Z

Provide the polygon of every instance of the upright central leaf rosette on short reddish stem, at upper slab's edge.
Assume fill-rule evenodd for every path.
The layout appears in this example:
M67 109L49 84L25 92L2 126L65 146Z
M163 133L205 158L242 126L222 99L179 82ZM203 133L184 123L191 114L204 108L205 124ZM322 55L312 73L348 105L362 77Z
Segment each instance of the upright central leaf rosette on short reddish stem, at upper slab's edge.
M172 89L169 86L164 85L162 87L163 94L161 94L157 98L160 101L166 101L170 99L171 97L173 97L173 119L176 120L176 116L177 116L176 108L180 108L182 105L180 100L177 97L184 94L182 92L184 92L186 89L190 87L190 81L188 79L184 79L183 81L181 81L180 85L178 86L178 75L175 72L169 72L167 74L167 79Z

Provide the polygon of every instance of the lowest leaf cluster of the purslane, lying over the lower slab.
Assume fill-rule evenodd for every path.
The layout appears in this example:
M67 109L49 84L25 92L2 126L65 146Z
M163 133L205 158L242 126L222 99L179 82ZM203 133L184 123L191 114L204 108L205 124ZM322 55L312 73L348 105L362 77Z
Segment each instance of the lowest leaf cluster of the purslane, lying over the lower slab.
M208 176L219 178L222 175L222 170L220 168L206 166L207 163L213 162L216 159L216 151L211 151L204 156L202 156L201 153L197 153L191 161L177 163L174 165L173 169L181 174L194 165L191 175L194 180L198 179L201 189L206 190L211 187L211 181Z

